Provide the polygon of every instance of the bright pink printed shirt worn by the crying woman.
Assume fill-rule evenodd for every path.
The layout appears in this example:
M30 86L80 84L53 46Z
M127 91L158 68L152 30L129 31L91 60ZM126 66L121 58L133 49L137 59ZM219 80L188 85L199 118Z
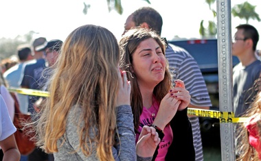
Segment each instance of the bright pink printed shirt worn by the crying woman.
M159 103L155 101L153 105L146 109L145 107L143 108L143 111L141 113L141 116L139 117L139 133L141 132L141 129L144 125L150 126L153 121L155 120L155 117L157 116L157 112L159 110ZM166 125L165 129L163 129L163 132L165 136L161 140L161 143L159 143L159 150L158 150L158 155L156 158L156 161L163 161L165 160L165 156L168 152L168 147L170 147L172 140L173 140L173 134L172 134L172 129L170 127L170 124ZM139 134L136 134L136 143L139 138Z

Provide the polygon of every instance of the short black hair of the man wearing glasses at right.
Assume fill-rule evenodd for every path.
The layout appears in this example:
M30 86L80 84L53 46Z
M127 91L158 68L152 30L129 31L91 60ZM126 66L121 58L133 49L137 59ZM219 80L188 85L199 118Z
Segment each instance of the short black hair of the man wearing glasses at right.
M244 29L243 34L245 38L251 38L251 40L253 41L252 49L253 51L256 51L256 45L258 45L258 40L259 40L258 30L249 24L238 25L236 29Z

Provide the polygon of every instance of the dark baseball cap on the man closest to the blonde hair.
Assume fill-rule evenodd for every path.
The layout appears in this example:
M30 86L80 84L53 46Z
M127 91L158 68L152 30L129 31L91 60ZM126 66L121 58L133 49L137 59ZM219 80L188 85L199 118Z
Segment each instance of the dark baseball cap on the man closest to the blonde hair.
M53 39L53 40L49 40L48 42L46 41L45 43L43 43L43 45L36 47L36 51L44 51L45 49L53 49L55 51L59 51L62 45L63 45L62 40Z

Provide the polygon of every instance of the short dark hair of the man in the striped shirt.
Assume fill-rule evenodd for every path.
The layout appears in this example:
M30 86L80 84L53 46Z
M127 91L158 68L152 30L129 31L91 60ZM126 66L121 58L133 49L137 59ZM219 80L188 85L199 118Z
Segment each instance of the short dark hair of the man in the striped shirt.
M163 25L162 17L157 10L150 7L143 7L133 12L133 22L138 27L141 23L147 23L150 29L155 30L157 34L161 35L161 28Z

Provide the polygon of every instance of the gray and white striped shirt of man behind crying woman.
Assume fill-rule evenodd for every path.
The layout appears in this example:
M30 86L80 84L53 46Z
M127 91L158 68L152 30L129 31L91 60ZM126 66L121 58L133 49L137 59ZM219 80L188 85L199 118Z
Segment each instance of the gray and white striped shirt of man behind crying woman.
M190 91L190 103L198 107L212 106L205 80L192 55L185 49L169 43L166 49L166 58L169 62L170 72L173 75L172 79L181 79L185 84L185 88ZM190 122L192 125L196 161L202 161L203 149L198 117L190 117Z

